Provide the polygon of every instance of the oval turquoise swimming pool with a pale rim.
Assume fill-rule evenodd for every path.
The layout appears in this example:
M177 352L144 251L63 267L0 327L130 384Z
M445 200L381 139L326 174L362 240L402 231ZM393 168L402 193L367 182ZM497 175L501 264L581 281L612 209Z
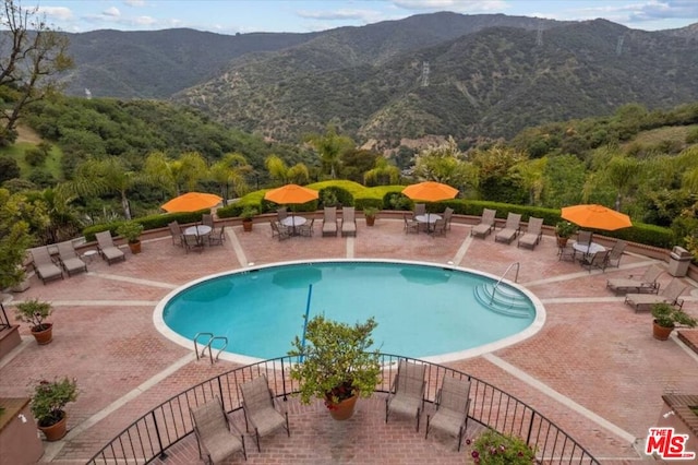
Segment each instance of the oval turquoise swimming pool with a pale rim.
M514 283L505 282L530 303L526 318L476 300L476 286L496 281L472 270L406 261L286 262L189 283L158 303L154 322L188 348L201 332L226 336L229 354L221 358L250 362L286 355L293 336L302 334L306 310L311 318L324 313L347 323L375 317L381 351L443 362L504 347L542 326L542 305Z

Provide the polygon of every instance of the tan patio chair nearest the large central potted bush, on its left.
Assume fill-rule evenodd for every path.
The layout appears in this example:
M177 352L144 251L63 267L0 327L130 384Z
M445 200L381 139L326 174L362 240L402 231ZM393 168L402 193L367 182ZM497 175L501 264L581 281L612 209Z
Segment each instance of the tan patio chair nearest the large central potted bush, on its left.
M245 429L250 431L250 426L254 429L257 452L262 452L260 438L272 431L284 428L288 437L291 437L291 430L288 427L288 412L282 410L274 401L266 375L262 374L241 384L240 393Z

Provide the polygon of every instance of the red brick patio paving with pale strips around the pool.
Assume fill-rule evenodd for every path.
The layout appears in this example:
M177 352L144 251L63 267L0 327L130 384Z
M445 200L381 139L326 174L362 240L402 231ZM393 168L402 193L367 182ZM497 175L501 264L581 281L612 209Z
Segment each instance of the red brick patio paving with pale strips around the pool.
M313 258L419 260L501 275L520 262L518 282L545 305L546 321L534 336L480 357L447 363L520 398L570 433L602 463L636 463L633 446L657 424L666 392L696 392L698 356L678 342L651 335L651 317L635 313L623 297L605 288L609 277L641 274L654 261L625 255L619 269L591 273L559 262L553 238L534 251L472 239L470 227L453 225L447 237L405 235L398 220L378 219L366 228L359 220L357 238L272 239L268 224L252 233L229 228L224 247L185 254L169 236L144 241L143 253L108 266L89 263L89 272L32 287L16 300L38 297L56 306L53 342L37 346L22 326L23 344L0 360L0 396L27 395L34 381L70 375L81 395L68 406L67 438L45 443L45 462L84 463L124 427L173 394L234 367L195 361L191 349L154 329L153 309L171 289L208 274ZM664 264L662 263L662 266ZM671 276L662 275L665 285ZM698 317L696 283L684 308ZM7 306L8 313L13 313ZM12 319L12 315L11 315ZM686 332L695 337L696 332ZM468 463L447 439L423 440L410 424L381 422L380 400L364 401L357 427L325 420L322 408L299 409L292 436L272 438L262 454L249 442L251 463ZM329 430L326 430L329 428ZM347 428L341 431L338 429ZM327 432L329 431L329 432ZM341 441L337 438L341 438ZM338 449L327 443L341 442ZM325 445L323 445L325 444ZM197 458L194 441L182 441L164 463ZM233 461L238 463L239 461Z

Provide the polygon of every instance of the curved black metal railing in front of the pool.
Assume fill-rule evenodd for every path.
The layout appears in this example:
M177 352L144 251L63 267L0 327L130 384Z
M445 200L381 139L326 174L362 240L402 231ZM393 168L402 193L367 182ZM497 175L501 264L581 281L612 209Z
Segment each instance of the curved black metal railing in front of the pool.
M386 393L397 373L397 361L408 357L381 354L383 377L376 392ZM215 396L220 397L226 412L242 408L238 386L261 374L266 374L277 397L286 400L298 392L298 382L291 380L289 367L293 357L264 360L198 383L165 401L112 439L88 462L92 464L147 464L167 457L168 448L193 432L189 410ZM436 363L426 365L424 398L433 403L444 375L470 380L470 412L468 417L495 431L516 434L535 448L537 460L545 464L598 464L599 462L577 441L554 422L518 398L492 384L467 373Z

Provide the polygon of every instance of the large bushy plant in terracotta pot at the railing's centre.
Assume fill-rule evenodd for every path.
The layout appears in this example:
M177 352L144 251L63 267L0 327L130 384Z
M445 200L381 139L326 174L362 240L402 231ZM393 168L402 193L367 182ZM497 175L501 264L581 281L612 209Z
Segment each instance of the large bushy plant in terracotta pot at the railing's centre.
M353 415L358 397L373 394L381 375L378 350L369 350L376 325L373 318L349 325L322 314L306 322L303 338L296 336L289 351L299 357L291 379L301 383L302 404L322 398L332 417L344 420Z

